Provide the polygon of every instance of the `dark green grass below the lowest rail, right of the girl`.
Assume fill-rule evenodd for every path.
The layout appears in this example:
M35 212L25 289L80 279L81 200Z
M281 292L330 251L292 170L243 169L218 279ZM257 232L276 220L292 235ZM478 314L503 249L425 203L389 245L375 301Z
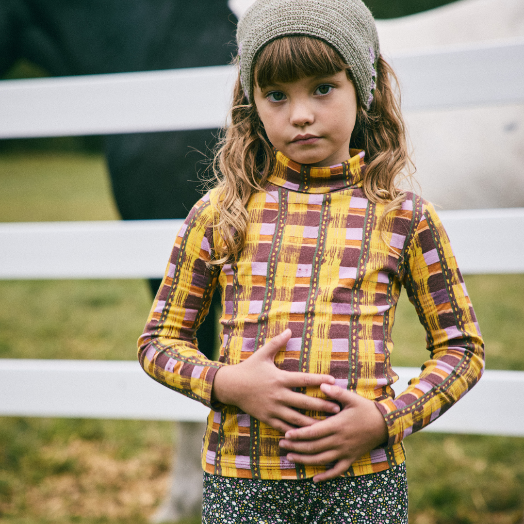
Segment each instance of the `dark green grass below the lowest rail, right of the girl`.
M405 446L410 522L522 522L524 439L421 432Z

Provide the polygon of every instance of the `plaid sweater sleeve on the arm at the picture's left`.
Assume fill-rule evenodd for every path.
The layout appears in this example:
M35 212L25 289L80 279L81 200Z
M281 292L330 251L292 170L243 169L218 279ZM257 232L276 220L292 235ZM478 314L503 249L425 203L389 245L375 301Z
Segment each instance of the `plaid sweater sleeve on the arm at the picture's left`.
M208 193L194 205L177 235L138 339L138 360L148 375L208 407L213 378L223 364L209 361L198 351L195 332L209 311L220 272L206 265L213 245Z

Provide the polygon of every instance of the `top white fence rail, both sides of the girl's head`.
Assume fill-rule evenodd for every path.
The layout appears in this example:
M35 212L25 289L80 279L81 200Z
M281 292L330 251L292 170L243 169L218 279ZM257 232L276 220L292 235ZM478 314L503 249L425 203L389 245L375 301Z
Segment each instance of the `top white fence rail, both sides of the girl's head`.
M524 102L524 41L388 57L405 110ZM0 81L0 138L220 127L231 66Z

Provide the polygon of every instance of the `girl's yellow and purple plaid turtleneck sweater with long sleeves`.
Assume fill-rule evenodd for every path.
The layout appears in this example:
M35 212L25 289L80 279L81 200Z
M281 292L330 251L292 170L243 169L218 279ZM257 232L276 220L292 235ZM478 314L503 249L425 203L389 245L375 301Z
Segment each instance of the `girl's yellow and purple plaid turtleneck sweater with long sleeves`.
M235 406L212 404L216 370L252 355L286 328L281 369L333 375L375 400L389 442L347 472L363 475L405 460L402 438L439 417L481 377L484 349L451 246L433 207L408 194L377 224L384 205L362 190L364 153L340 166L311 168L276 153L267 192L248 203L249 228L234 264L209 269L220 239L215 191L195 204L174 243L138 357L160 383L212 408L204 436L206 472L254 479L312 477L324 466L286 460L278 431ZM195 331L216 287L222 294L217 362L198 351ZM391 329L401 286L427 333L427 360L395 398ZM318 388L307 395L322 395ZM173 402L177 398L173 397ZM311 413L322 418L322 413Z

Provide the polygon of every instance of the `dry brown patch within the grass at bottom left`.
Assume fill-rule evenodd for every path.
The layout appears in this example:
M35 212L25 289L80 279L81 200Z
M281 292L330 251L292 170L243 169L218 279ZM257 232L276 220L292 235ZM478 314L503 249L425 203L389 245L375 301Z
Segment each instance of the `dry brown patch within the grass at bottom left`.
M27 492L18 492L4 511L25 505L39 517L63 519L71 515L85 518L123 519L150 514L165 494L168 473L162 450L144 450L123 461L103 443L74 440L64 447L49 444L40 450L42 460L72 471L50 475Z

